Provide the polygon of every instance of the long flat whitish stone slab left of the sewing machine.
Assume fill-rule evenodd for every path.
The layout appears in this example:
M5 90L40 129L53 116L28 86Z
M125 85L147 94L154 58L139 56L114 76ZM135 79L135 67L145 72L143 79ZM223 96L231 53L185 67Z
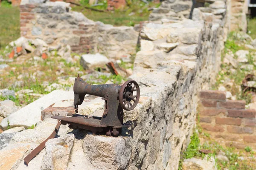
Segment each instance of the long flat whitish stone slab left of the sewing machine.
M24 108L21 108L15 113L12 113L11 115L7 116L0 123L0 126L3 127L3 129L6 129L9 121L9 126L11 127L30 127L41 120L42 110L48 108L50 105L58 101L69 100L73 98L73 91L52 91L51 93L41 97L40 99L37 99L35 102L32 102L29 105L26 105Z

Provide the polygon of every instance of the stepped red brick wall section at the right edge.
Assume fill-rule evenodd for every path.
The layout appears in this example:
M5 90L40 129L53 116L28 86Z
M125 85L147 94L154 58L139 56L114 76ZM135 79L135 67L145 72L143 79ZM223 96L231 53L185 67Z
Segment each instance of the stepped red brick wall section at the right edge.
M227 147L256 148L256 111L244 101L226 100L224 91L201 91L200 125Z

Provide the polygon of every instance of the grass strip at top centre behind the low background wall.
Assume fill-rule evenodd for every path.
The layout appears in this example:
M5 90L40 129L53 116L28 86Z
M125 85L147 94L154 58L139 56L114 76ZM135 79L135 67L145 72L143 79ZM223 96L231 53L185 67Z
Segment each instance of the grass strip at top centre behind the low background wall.
M87 6L87 3L82 3L82 5ZM148 20L148 16L151 13L151 11L148 11L148 8L158 7L159 3L146 4L136 0L132 3L128 3L128 5L129 6L122 10L119 9L106 12L92 11L90 9L84 9L82 6L74 6L72 7L72 10L82 12L85 17L93 21L100 21L113 26L134 26L135 24L140 23L140 21ZM105 9L106 6L95 8ZM132 12L134 15L129 16Z

